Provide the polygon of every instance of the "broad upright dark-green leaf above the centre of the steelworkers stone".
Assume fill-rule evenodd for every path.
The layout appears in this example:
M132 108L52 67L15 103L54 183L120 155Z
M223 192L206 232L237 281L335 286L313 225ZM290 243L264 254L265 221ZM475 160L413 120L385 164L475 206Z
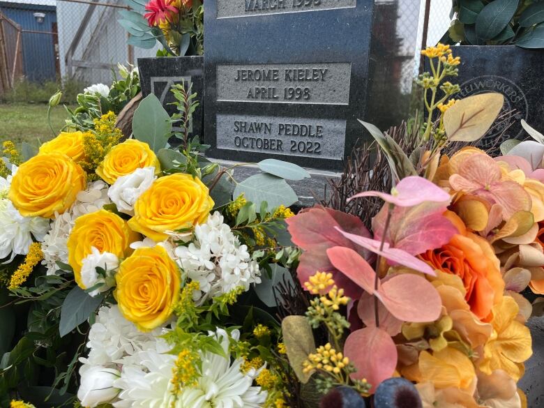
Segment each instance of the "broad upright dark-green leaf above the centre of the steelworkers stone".
M517 10L519 0L494 0L488 3L476 17L476 35L490 40L501 33Z

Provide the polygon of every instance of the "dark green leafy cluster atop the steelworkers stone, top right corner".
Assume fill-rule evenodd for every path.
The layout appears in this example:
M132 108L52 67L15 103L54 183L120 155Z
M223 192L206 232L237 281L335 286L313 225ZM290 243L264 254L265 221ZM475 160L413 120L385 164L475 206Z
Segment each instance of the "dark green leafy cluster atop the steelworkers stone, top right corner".
M456 19L442 42L544 48L544 2L453 0Z

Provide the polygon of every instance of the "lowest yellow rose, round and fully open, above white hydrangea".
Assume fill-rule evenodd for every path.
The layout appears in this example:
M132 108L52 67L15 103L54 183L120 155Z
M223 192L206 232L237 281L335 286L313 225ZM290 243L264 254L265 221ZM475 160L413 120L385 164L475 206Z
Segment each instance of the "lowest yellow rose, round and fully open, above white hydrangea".
M119 310L139 330L152 330L172 315L181 277L178 266L162 246L135 250L121 262L115 280Z

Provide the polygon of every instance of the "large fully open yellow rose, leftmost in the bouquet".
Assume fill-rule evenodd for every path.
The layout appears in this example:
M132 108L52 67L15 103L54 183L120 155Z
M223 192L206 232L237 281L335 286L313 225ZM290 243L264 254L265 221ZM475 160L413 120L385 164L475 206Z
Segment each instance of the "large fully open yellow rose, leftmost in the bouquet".
M86 174L63 153L38 154L20 165L9 199L25 217L54 218L75 202L86 186Z

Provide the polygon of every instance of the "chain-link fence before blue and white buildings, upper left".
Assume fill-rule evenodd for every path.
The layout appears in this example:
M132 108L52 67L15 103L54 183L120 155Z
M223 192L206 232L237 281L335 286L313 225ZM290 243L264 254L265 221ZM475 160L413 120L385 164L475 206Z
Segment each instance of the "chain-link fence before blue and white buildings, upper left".
M0 91L20 78L109 83L117 63L155 55L127 45L117 22L123 9L123 0L0 0Z

